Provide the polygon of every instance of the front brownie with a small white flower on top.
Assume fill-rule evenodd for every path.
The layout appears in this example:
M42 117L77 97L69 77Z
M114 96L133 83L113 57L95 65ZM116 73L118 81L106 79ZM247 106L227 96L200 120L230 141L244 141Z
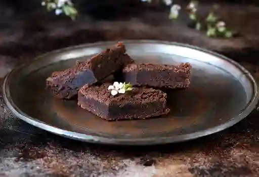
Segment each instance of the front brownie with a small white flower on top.
M124 94L111 95L108 87L87 85L78 91L78 105L107 120L146 119L167 114L166 93L152 88L133 88Z

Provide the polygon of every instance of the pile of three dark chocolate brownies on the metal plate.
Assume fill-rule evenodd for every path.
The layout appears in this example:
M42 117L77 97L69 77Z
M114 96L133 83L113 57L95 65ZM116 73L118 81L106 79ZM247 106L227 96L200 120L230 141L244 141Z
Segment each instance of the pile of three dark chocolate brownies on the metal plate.
M60 99L78 96L82 109L105 120L146 119L169 113L166 93L159 88L189 87L190 69L190 63L137 64L126 54L123 43L118 43L87 61L77 61L72 68L54 72L47 86ZM117 75L114 78L131 89L112 94L109 86L113 83L104 82L110 75Z

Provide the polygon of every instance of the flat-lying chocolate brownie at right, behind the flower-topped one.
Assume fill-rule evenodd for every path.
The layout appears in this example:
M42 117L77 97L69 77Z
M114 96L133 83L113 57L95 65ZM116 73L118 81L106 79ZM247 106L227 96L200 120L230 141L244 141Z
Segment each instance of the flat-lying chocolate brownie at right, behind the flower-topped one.
M180 65L142 63L127 64L124 81L133 86L187 88L190 85L190 63Z

